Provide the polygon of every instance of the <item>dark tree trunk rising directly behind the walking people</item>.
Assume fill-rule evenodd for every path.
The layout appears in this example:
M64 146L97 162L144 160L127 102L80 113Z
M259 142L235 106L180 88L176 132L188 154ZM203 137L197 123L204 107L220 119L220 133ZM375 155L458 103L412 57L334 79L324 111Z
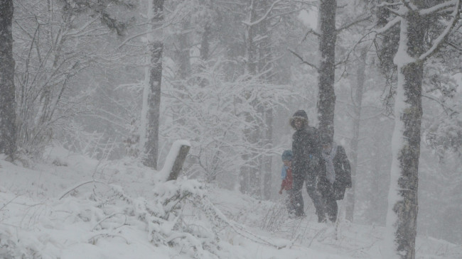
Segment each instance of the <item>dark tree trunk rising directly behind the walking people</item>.
M335 11L337 0L321 0L319 4L319 52L318 70L318 121L321 133L333 140L333 116L335 111Z

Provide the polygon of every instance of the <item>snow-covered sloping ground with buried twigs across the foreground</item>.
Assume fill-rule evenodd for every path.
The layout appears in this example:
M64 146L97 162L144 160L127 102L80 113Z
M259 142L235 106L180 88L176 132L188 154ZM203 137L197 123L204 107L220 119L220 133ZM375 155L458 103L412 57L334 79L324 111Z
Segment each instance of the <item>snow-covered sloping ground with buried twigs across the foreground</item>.
M384 229L289 219L281 202L63 148L45 163L0 157L0 258L381 258ZM157 174L156 174L157 173ZM341 206L341 205L340 205ZM417 258L462 258L419 236Z

